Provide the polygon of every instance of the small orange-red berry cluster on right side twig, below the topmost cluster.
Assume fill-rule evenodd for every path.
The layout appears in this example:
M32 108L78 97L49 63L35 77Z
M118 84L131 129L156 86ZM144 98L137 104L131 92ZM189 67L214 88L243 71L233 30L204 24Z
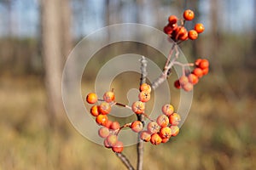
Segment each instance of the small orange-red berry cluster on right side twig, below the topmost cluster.
M174 82L175 88L183 88L189 92L193 89L194 85L199 82L199 79L208 74L209 61L207 59L196 59L195 69L193 71L185 71L182 77Z

